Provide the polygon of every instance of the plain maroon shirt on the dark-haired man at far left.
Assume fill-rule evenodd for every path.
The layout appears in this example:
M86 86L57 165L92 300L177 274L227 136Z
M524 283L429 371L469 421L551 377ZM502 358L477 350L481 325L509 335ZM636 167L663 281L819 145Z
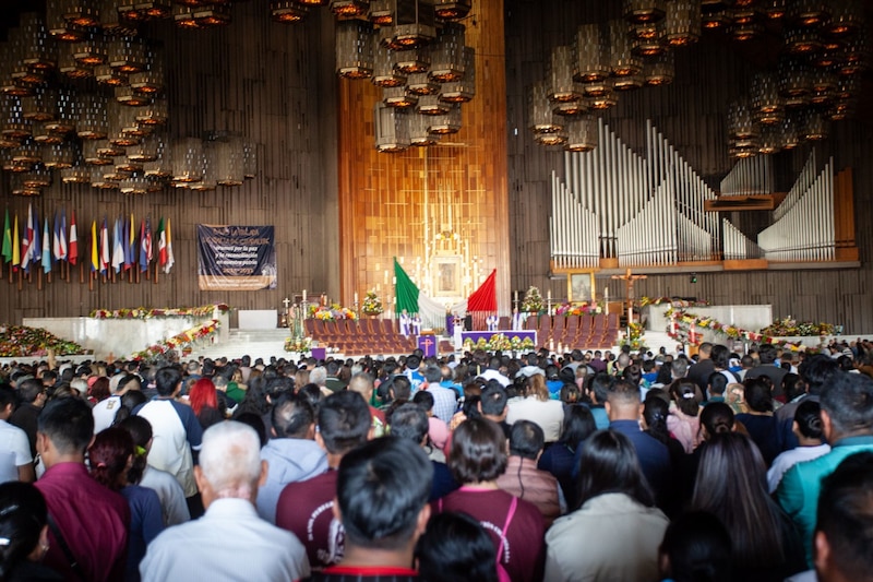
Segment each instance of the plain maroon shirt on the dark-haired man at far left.
M88 475L82 463L58 463L36 488L61 531L85 578L93 582L124 579L130 507L128 501ZM79 577L49 528L45 562L67 580Z

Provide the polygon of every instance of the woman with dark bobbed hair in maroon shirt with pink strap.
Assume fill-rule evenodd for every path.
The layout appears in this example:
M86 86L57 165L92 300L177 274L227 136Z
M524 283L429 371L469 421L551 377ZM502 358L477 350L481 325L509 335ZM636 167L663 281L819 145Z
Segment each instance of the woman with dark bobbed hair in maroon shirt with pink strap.
M499 569L514 582L541 580L542 515L535 504L498 487L506 464L503 429L487 418L468 417L455 429L449 453L449 468L461 488L438 499L434 509L463 511L482 523Z

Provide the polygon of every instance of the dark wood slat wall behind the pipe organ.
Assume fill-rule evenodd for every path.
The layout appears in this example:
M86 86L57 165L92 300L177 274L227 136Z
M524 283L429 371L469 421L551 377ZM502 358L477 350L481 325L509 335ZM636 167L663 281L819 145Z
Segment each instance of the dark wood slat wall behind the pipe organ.
M563 154L537 145L526 128L527 94L541 79L552 46L571 41L576 26L618 17L620 2L609 9L591 2L531 2L507 0L506 68L510 156L510 215L512 287L540 287L543 295L565 295L564 278L549 280L550 175L563 169ZM610 3L613 4L613 3ZM675 81L667 87L643 88L621 94L619 104L606 115L607 123L635 152L644 152L643 129L651 119L656 128L674 144L689 164L714 187L731 168L727 154L726 111L728 104L745 92L755 64L745 60L737 47L723 38L704 33L697 45L677 50ZM862 106L859 106L859 108ZM870 290L873 268L873 140L868 128L857 121L832 126L832 135L818 145L821 158L834 155L839 170L852 167L857 242L860 270L804 272L699 273L692 284L687 273L649 275L637 283L637 297L698 297L715 304L770 304L774 317L793 316L799 320L827 321L846 325L847 333L873 329ZM809 146L776 156L780 188L786 191L809 154ZM786 186L787 185L787 186ZM764 219L762 219L764 218ZM743 217L741 227L752 234L766 226L769 217ZM745 224L748 223L748 224ZM610 296L624 296L624 286L609 285Z

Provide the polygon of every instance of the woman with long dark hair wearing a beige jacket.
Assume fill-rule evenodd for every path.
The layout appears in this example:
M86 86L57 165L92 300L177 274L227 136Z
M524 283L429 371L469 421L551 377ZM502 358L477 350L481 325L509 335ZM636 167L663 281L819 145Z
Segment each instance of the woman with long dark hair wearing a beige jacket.
M669 522L627 437L614 430L588 437L576 502L546 534L545 580L658 579L658 546Z

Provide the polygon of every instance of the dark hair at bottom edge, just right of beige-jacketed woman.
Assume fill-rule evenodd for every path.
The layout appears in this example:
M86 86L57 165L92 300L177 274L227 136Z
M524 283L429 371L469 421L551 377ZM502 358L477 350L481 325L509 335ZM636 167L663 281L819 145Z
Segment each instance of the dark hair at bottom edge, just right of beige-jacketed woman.
M662 577L674 582L730 582L730 534L709 512L686 511L663 534L660 554L670 561Z

